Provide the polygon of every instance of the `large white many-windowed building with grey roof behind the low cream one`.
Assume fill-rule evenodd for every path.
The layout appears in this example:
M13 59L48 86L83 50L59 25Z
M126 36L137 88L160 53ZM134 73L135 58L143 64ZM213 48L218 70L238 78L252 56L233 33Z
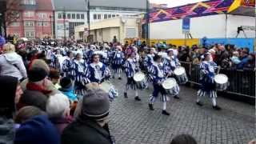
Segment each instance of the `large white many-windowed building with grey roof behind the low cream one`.
M64 38L65 36L66 38L74 38L74 26L87 23L88 7L90 7L90 22L123 16L141 17L146 11L146 1L144 0L90 0L90 6L87 6L86 0L52 1L55 10L54 34L56 38Z

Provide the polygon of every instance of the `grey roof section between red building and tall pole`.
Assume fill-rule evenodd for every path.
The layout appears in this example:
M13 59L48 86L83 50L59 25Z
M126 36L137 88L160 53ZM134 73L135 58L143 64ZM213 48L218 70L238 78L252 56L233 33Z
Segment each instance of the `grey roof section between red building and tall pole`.
M54 10L66 11L86 11L87 4L85 0L52 0Z

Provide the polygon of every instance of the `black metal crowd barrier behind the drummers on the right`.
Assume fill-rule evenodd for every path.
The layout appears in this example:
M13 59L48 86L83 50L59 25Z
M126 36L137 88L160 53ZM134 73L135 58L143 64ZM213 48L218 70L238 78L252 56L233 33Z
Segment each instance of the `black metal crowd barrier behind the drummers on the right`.
M190 83L200 85L199 65L191 62L180 62L186 69L186 74ZM230 86L226 93L238 94L248 98L255 98L255 71L254 70L225 70L221 69L220 74L226 74L229 78Z

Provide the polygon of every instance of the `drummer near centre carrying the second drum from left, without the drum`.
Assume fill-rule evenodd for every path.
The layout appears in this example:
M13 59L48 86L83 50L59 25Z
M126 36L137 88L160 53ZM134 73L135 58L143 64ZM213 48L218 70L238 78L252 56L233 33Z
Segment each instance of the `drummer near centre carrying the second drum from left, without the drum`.
M127 90L135 90L135 100L136 101L141 101L141 98L138 97L138 90L137 90L137 85L136 82L134 81L134 74L138 72L139 66L138 62L135 59L135 54L128 54L128 58L125 62L125 72L126 72L126 77L127 77L127 82L126 82L126 89L124 92L124 97L128 98L127 96Z

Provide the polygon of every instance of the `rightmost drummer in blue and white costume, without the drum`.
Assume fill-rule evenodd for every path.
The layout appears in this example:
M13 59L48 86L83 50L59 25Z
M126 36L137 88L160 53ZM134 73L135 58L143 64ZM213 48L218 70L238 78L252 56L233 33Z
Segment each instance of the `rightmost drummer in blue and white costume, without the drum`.
M198 90L198 99L197 105L202 106L201 98L208 94L213 103L214 110L221 110L219 106L217 106L217 92L215 90L214 85L214 70L218 68L217 64L213 61L210 61L211 55L210 53L206 53L203 55L203 61L200 64L200 83L201 88Z

